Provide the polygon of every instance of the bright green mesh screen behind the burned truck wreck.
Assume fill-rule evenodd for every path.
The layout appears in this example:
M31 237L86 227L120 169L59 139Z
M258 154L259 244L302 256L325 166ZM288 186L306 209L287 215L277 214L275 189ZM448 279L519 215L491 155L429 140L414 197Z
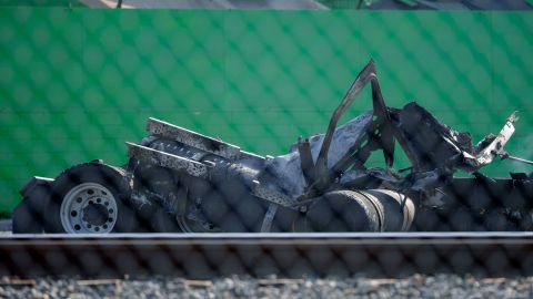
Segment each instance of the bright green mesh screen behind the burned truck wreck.
M389 105L416 100L474 141L520 111L507 150L533 158L532 53L533 13L1 8L0 210L32 175L125 163L149 116L282 154L325 131L371 58Z

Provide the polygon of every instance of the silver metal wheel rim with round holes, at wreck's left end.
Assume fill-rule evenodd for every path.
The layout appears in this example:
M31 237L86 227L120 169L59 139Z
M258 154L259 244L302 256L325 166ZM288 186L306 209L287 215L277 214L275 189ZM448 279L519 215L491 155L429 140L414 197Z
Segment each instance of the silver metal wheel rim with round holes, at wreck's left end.
M118 212L117 199L108 188L83 183L64 196L61 225L69 234L107 234L117 224Z

